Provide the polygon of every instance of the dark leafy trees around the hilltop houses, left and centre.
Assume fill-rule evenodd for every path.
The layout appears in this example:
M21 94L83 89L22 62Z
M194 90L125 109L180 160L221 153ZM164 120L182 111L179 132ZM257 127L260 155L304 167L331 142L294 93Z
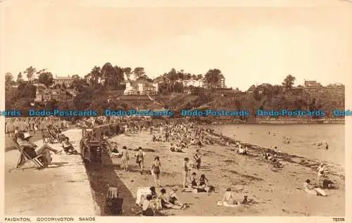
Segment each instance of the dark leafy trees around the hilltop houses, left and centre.
M209 88L220 87L220 80L224 78L222 72L218 69L210 69L206 74L194 75L184 70L175 70L172 68L163 75L151 78L146 75L142 67L122 68L118 65L105 63L102 67L94 66L92 70L84 77L73 75L72 83L69 86L65 84L54 84L54 75L46 69L30 68L19 72L17 79L11 73L6 73L6 109L29 110L30 108L46 109L86 109L86 108L106 108L107 106L126 107L125 104L114 103L109 105L106 100L106 92L125 90L126 82L129 77L134 75L140 82L157 82L159 94L170 94L172 92L183 92L193 82L200 85L206 84ZM25 80L25 78L27 80ZM126 78L127 77L127 78ZM37 91L37 83L44 84L46 88L59 89L65 92L65 89L74 89L77 94L73 101L58 102L55 100L47 103L34 103ZM14 87L17 86L17 87Z

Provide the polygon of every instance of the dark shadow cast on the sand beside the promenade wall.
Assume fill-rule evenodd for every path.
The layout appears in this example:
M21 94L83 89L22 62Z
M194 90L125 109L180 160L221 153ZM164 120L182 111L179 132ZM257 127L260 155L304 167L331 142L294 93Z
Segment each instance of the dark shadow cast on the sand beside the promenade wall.
M115 172L116 165L113 164L108 155L102 155L102 164L87 163L87 174L89 183L94 191L94 200L101 210L101 215L111 216L111 212L105 209L108 187L118 188L118 197L123 198L122 215L135 216L139 210L136 210L135 198L129 189L123 184Z

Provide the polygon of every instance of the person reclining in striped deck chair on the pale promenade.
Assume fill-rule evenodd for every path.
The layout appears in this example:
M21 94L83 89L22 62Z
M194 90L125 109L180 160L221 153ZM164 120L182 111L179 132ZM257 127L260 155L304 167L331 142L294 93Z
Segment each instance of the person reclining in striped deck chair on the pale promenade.
M43 155L44 159L41 160L44 165L48 166L51 164L51 155L49 151L53 151L54 153L61 153L61 151L57 151L54 148L51 148L51 146L48 146L44 144L40 148L37 148L38 146L31 143L28 141L30 138L30 135L24 134L23 132L19 132L17 134L17 139L16 142L18 143L19 146L23 147L23 151L30 156L30 158L35 158L37 155ZM23 157L21 157L20 163L18 163L18 167L23 165L25 163L25 160L23 160Z

